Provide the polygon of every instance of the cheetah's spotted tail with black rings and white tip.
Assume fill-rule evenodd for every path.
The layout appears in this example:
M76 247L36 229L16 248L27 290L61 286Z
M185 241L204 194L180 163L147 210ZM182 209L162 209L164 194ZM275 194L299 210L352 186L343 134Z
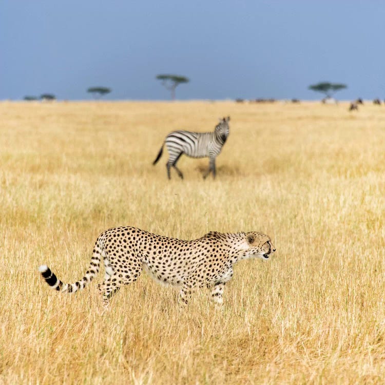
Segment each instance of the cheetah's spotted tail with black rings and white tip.
M53 288L54 290L61 291L63 293L74 293L78 290L82 290L88 283L92 281L93 278L97 276L100 268L101 260L100 249L98 245L95 245L93 255L89 268L84 275L84 277L75 282L75 283L64 283L56 277L56 275L51 271L47 265L39 266L38 270L45 279L45 281Z

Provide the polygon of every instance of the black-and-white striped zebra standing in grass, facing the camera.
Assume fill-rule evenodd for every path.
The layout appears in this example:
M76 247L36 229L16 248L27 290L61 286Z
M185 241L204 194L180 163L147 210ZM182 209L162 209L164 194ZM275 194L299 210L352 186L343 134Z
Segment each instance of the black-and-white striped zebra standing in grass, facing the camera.
M227 140L229 134L229 121L230 117L219 119L219 123L215 126L215 130L213 132L170 132L166 136L158 156L152 164L155 165L159 161L162 156L164 144L166 144L168 150L168 161L166 163L168 179L171 179L171 167L174 167L178 172L179 177L183 179L183 174L177 167L177 162L183 153L191 158L208 157L210 160L209 168L204 174L203 179L206 179L210 172L213 172L213 177L215 178L215 158L219 155Z

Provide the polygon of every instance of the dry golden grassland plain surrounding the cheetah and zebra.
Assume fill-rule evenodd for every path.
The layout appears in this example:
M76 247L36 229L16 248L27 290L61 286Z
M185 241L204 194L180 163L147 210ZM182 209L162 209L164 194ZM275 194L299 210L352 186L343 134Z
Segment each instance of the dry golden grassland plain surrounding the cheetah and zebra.
M0 103L0 383L383 383L385 107L233 102ZM230 115L217 179L174 129ZM235 266L216 311L147 276L104 309L83 277L106 228L192 239L260 230L273 260ZM103 279L102 273L97 281Z

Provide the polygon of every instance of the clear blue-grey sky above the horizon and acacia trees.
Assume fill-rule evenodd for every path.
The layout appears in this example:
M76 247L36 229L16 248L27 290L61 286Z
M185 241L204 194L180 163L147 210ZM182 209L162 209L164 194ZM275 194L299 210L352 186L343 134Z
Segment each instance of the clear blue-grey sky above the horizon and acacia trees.
M54 93L168 100L159 73L187 76L177 99L385 98L385 2L375 0L0 3L0 100Z

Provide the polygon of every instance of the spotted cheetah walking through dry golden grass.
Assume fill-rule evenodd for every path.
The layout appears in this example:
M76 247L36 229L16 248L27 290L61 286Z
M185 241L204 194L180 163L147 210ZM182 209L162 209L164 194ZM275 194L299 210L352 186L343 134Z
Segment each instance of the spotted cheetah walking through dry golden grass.
M271 239L257 232L209 232L185 241L130 226L114 227L96 240L89 268L81 280L63 283L46 265L39 271L53 289L73 293L99 273L103 258L105 280L98 287L106 304L121 285L136 281L144 270L163 285L179 286L179 298L184 304L195 288L206 286L213 301L221 305L224 285L233 277L233 265L248 258L267 260L275 251Z

